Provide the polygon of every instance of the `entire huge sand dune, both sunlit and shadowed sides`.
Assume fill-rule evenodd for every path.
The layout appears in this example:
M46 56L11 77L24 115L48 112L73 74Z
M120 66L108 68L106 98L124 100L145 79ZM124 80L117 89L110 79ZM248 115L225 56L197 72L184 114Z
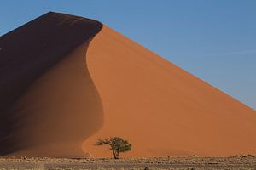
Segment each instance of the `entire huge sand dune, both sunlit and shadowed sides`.
M0 48L2 156L256 153L253 109L99 22L45 14Z

